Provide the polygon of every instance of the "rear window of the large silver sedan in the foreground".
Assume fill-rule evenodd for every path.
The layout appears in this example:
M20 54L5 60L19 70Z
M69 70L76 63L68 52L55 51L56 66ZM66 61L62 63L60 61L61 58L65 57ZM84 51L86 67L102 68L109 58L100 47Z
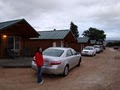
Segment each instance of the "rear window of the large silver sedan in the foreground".
M45 51L43 51L43 55L60 57L63 54L63 52L64 50L46 49Z

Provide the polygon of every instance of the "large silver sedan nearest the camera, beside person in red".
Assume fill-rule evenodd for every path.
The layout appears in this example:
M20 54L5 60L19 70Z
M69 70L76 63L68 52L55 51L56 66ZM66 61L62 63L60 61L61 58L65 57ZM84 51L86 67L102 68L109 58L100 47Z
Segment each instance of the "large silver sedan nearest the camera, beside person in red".
M50 47L43 51L43 59L43 73L67 76L70 69L80 66L81 54L72 48ZM37 69L34 60L32 61L32 68Z

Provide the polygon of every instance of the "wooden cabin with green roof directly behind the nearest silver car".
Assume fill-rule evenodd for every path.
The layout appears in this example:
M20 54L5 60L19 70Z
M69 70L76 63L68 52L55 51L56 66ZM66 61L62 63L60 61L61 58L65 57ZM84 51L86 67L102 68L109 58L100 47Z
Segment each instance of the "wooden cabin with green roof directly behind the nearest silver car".
M70 30L38 31L38 33L40 34L38 38L31 38L26 42L32 55L37 47L43 50L48 47L71 47L71 43L76 42Z

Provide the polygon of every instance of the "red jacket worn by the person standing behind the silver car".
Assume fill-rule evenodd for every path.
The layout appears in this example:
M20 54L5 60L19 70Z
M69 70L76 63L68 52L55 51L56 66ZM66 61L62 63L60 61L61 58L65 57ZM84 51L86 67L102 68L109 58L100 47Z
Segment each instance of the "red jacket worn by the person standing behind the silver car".
M42 56L42 54L40 52L37 52L35 54L35 61L36 61L37 67L43 66L43 63L44 63L43 56Z

